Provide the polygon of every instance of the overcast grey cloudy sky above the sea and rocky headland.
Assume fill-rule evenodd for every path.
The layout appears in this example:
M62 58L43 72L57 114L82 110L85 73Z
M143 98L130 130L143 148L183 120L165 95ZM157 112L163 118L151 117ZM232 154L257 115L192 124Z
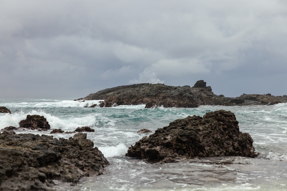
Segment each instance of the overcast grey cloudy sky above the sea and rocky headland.
M286 0L0 0L0 97L204 80L287 94Z

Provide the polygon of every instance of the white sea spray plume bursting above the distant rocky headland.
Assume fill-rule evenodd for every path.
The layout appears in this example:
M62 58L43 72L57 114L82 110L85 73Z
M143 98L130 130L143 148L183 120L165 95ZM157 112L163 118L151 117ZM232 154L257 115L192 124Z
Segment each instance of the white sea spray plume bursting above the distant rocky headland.
M163 84L164 80L160 80L155 72L144 70L139 74L139 79L129 80L130 84L150 83L150 84Z

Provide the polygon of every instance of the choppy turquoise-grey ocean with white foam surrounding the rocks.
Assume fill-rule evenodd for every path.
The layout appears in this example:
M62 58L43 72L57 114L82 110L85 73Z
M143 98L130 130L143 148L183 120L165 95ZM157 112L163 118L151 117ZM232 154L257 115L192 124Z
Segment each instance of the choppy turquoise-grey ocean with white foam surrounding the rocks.
M87 132L110 165L100 176L82 178L76 186L55 181L54 190L287 190L287 103L271 106L200 106L198 108L145 109L145 105L94 107L99 100L78 102L75 98L2 97L0 106L12 114L0 113L0 129L19 127L27 115L43 115L51 130L18 130L16 133L53 135L69 138L73 134L50 134L53 129L74 131L89 126ZM127 149L146 135L143 128L155 131L175 119L203 116L224 109L233 112L240 131L249 133L256 158L208 157L178 163L150 164L126 157ZM148 136L148 135L147 135Z

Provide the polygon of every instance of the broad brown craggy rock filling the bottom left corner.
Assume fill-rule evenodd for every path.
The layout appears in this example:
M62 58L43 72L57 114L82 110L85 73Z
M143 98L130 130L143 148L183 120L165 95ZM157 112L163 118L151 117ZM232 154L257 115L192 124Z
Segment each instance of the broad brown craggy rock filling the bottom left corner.
M53 180L77 183L83 176L102 174L108 161L86 135L58 140L1 133L0 190L52 190Z

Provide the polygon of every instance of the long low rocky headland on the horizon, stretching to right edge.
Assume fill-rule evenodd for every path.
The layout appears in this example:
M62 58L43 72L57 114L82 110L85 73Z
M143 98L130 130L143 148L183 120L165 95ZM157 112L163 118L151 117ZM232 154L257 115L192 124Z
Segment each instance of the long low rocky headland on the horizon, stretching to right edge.
M133 84L100 90L75 101L104 100L100 107L146 104L146 108L199 107L200 105L274 105L287 103L287 95L242 94L239 97L224 97L212 92L206 82L198 80L193 87L167 86L164 84Z

